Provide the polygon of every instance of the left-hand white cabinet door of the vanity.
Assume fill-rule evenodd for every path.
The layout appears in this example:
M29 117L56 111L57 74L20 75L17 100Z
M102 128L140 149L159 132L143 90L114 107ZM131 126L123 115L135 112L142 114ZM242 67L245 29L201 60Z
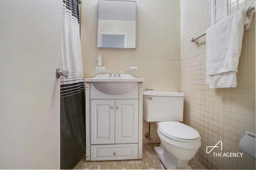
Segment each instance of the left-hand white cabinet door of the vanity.
M114 144L114 100L91 100L91 144Z

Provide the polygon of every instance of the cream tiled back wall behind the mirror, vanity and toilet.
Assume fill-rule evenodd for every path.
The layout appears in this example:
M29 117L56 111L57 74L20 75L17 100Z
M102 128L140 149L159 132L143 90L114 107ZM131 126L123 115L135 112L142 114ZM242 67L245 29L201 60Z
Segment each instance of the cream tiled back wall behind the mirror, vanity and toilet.
M180 0L137 0L137 49L97 48L98 0L82 0L81 46L84 78L95 76L96 60L102 53L103 65L110 72L138 66L138 77L145 78L144 89L180 91ZM148 123L143 122L143 137ZM156 125L151 137L158 143ZM148 140L143 138L143 143Z

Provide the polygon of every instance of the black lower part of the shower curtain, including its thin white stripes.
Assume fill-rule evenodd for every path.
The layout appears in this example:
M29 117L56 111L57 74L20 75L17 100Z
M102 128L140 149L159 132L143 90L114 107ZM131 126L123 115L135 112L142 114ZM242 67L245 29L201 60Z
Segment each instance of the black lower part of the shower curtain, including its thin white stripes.
M72 89L67 90L72 86ZM80 93L74 88L80 86ZM72 90L74 92L72 92ZM73 169L85 153L84 83L61 85L60 169ZM71 93L72 96L69 96ZM66 95L65 94L69 94Z

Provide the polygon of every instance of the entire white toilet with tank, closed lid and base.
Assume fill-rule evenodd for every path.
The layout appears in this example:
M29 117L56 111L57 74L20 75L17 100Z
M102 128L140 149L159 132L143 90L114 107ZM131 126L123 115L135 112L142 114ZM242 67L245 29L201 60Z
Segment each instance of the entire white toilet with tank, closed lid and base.
M184 93L143 92L143 119L157 122L161 141L155 147L166 169L191 169L191 160L201 146L198 131L178 121L183 121Z

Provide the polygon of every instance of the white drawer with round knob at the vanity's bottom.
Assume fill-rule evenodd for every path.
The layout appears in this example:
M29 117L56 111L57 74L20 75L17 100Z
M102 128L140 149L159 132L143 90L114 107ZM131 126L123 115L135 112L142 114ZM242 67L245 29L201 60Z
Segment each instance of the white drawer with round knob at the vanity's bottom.
M138 159L138 144L91 145L91 160Z

